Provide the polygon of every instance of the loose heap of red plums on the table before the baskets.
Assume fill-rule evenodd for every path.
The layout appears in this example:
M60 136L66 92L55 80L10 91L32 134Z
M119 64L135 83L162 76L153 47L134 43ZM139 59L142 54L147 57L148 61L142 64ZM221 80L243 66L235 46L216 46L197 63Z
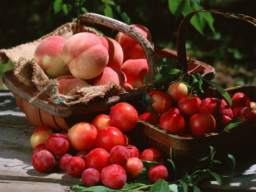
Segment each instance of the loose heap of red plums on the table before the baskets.
M138 119L137 110L123 102L113 106L109 115L98 115L91 123L77 123L65 133L40 126L30 138L34 148L32 166L41 173L61 169L71 177L81 178L87 187L121 189L126 182L137 179L144 168L142 160L164 162L159 149L141 152L127 136ZM166 180L168 170L163 164L152 165L148 177L152 182Z

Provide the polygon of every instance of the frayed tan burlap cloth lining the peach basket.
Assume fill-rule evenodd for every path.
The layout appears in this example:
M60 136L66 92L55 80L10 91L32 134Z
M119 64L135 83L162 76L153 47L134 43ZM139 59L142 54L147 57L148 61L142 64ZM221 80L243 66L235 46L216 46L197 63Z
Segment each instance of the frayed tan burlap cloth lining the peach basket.
M38 40L18 45L11 49L1 49L0 59L3 64L6 64L9 59L16 64L14 75L18 77L20 84L36 87L38 89L38 93L35 93L35 98L38 94L47 94L52 102L59 105L70 106L75 105L76 103L88 103L95 98L107 99L124 93L125 90L113 81L104 86L89 86L82 89L77 88L71 91L68 95L61 95L58 93L57 87L59 84L57 84L56 80L49 78L46 73L44 73L43 69L36 64L33 60L34 51L36 45L48 36L59 35L69 39L69 37L77 32L92 32L93 34L102 36L102 34L98 33L94 28L85 26L77 28L76 22L66 23L55 31L40 37Z

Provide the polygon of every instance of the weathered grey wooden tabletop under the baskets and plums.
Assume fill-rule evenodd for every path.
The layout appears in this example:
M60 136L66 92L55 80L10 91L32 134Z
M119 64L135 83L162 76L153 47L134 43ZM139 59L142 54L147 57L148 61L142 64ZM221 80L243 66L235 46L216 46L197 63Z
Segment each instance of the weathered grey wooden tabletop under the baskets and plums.
M68 191L69 186L82 183L59 169L39 173L31 165L30 126L16 106L10 91L0 91L0 191ZM256 149L254 154L237 158L235 176L200 184L201 191L256 191ZM230 170L230 169L229 169ZM223 174L225 170L223 170Z

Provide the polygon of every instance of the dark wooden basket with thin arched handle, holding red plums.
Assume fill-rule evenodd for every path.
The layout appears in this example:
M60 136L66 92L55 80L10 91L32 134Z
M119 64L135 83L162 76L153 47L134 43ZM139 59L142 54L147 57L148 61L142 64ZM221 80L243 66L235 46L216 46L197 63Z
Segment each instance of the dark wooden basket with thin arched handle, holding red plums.
M185 38L189 20L197 12L212 12L221 14L230 18L242 19L256 26L256 19L250 18L241 14L230 14L220 10L199 10L189 13L181 22L177 40L179 40L178 53L185 54ZM183 58L184 59L184 58ZM184 64L185 60L180 60ZM237 92L245 93L249 96L250 101L256 101L256 86L247 85L240 87L232 87L226 89L228 93L234 94ZM209 155L210 148L214 147L219 154L231 153L241 155L256 148L256 125L236 128L230 131L220 133L210 133L197 137L181 137L162 128L152 126L148 123L138 123L133 130L131 136L136 135L135 141L138 141L138 146L156 147L163 151L167 158L179 161L191 161Z

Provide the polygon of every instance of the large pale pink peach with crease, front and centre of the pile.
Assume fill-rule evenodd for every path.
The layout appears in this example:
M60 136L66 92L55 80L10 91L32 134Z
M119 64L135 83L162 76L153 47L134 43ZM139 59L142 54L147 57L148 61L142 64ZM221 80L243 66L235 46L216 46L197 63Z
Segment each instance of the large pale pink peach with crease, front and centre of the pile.
M67 40L62 58L73 76L89 80L103 72L109 61L109 53L97 35L81 32Z

